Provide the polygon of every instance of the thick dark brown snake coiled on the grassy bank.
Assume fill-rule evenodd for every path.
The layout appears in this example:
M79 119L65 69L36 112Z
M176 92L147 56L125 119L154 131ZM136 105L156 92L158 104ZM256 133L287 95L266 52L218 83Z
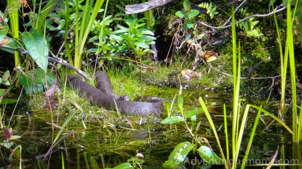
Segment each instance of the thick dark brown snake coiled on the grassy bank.
M155 115L156 117L160 117L164 111L161 101L143 102L121 99L121 96L113 92L109 77L104 71L95 73L96 87L83 81L77 74L67 74L66 79L69 88L106 110L118 110L127 115Z

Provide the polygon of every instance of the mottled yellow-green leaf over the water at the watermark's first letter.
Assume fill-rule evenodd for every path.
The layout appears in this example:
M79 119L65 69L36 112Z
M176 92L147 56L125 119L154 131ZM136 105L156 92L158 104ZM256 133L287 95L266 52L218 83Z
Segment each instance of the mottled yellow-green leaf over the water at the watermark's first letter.
M172 168L182 164L193 147L194 144L188 141L179 143L169 155L168 160L163 164L164 168Z

